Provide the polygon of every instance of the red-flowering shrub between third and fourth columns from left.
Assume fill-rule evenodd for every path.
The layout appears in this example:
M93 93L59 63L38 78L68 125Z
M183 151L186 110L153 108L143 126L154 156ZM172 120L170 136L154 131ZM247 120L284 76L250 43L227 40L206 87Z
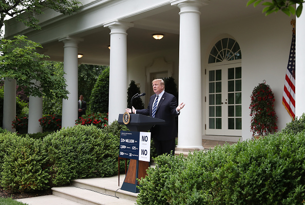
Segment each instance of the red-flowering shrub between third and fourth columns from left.
M108 125L108 113L92 113L82 115L75 120L75 125L94 125L98 128L104 128Z

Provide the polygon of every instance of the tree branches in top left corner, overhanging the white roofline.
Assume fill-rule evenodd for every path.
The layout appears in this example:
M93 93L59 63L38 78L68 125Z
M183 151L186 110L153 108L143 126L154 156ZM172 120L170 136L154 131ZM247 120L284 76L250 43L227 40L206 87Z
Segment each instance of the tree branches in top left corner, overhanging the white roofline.
M16 16L16 20L28 27L40 29L36 16L43 14L44 8L50 8L62 14L72 14L79 10L77 0L5 0L0 1L0 30L5 24L5 17Z

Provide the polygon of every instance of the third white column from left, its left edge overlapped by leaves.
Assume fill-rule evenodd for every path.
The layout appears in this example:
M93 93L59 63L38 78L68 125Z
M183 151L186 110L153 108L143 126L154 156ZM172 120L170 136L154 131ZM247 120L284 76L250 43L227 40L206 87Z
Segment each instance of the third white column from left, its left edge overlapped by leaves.
M78 118L78 44L81 38L64 37L64 75L68 99L63 99L62 127L75 126Z

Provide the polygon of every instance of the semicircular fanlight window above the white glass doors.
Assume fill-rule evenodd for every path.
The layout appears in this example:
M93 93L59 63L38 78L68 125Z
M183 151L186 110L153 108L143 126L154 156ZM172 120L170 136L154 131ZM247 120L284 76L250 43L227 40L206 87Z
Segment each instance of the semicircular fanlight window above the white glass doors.
M236 40L232 38L222 38L209 53L208 63L219 63L222 61L241 59L241 51Z

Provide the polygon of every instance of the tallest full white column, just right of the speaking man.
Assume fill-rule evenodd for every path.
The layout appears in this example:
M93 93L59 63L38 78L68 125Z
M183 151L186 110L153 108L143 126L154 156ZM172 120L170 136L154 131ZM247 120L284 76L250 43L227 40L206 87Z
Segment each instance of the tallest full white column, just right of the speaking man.
M201 56L199 1L174 1L180 8L179 116L177 151L203 149L201 123Z

